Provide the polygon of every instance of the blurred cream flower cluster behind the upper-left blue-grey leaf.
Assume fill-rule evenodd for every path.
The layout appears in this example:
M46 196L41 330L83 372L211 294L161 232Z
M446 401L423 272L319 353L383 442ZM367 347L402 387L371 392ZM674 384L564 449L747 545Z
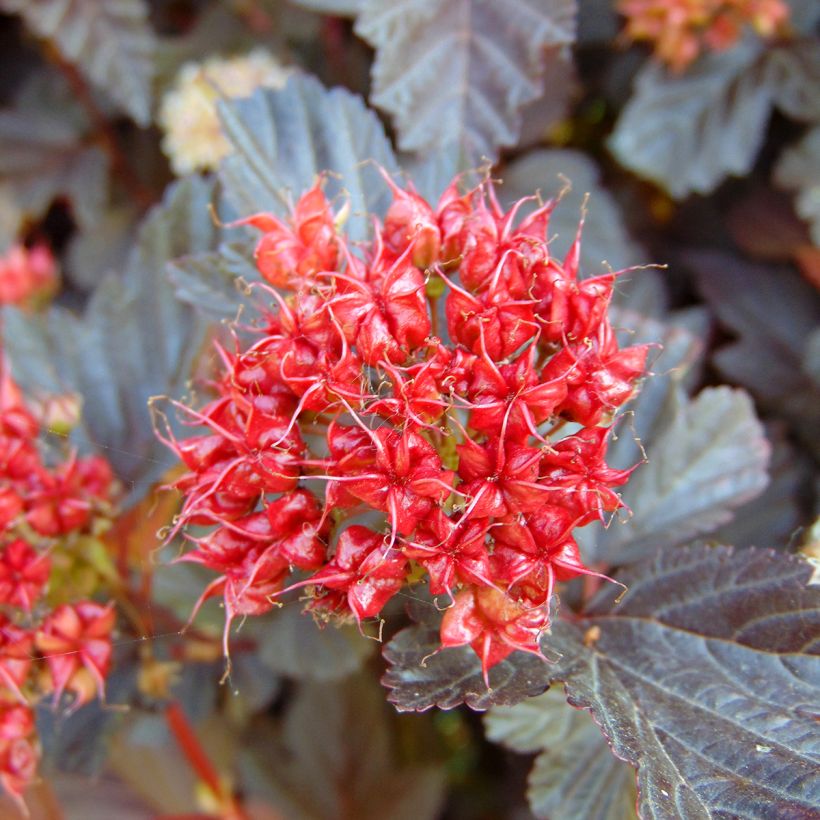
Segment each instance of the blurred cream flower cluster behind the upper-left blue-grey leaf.
M159 125L165 132L162 149L175 173L210 170L230 152L216 113L222 97L247 97L260 87L281 88L289 73L262 49L182 66L159 109Z

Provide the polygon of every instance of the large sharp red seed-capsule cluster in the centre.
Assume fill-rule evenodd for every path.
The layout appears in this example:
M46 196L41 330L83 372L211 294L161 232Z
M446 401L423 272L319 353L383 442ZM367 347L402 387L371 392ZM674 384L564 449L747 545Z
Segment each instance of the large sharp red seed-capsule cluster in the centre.
M608 425L647 346L618 346L615 274L579 279L580 230L550 254L554 201L519 221L487 183L432 208L388 182L367 244L318 183L288 221L243 221L271 298L249 342L218 346L216 398L174 403L207 428L163 434L187 468L174 532L212 527L181 560L218 573L226 652L231 619L288 590L361 623L426 574L451 602L442 647L472 646L486 678L540 654L556 582L595 574L573 531L621 506Z

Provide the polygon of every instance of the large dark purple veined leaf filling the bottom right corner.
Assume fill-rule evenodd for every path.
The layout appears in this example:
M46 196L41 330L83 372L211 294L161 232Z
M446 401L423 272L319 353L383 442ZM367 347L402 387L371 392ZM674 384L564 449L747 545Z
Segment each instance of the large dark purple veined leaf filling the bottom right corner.
M820 588L768 550L661 552L546 639L552 680L638 767L645 818L808 817L820 801ZM585 635L597 627L597 640Z

